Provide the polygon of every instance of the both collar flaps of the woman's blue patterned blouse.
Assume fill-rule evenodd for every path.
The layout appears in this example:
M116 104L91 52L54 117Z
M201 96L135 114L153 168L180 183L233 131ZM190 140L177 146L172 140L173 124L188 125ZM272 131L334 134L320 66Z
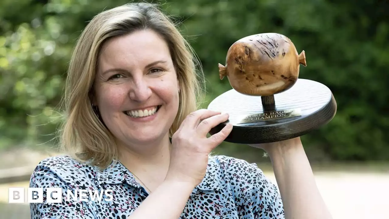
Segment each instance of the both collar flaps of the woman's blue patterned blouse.
M202 182L198 184L193 193L196 193L198 190L201 191L218 191L220 189L220 184L223 181L220 179L220 165L217 164L215 159L209 159L207 171ZM126 182L128 185L133 187L141 187L141 185L135 180L132 173L120 162L112 161L112 163L105 168L105 170L97 170L96 178L99 184L121 184Z

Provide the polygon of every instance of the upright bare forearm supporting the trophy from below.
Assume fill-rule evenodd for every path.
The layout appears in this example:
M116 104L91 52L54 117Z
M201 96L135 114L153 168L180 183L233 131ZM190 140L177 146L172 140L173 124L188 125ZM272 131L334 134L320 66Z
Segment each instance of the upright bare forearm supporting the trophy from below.
M332 218L300 138L251 146L263 148L272 161L286 219Z

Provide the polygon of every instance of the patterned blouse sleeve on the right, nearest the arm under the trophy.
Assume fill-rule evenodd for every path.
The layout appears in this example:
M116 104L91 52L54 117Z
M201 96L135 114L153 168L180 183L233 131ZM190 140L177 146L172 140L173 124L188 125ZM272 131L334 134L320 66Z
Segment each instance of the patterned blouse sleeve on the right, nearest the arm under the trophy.
M232 168L232 171L231 171ZM228 174L234 178L234 198L240 218L284 219L284 207L275 184L256 164L244 160L230 162Z

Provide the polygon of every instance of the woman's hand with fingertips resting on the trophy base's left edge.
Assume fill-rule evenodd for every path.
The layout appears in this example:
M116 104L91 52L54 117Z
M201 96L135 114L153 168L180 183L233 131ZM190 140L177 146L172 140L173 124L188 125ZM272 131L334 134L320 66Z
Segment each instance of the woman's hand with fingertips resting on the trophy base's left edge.
M232 125L226 125L209 138L207 134L228 117L228 114L208 109L189 114L172 136L170 166L165 180L188 182L193 187L200 184L207 170L210 152L227 138Z

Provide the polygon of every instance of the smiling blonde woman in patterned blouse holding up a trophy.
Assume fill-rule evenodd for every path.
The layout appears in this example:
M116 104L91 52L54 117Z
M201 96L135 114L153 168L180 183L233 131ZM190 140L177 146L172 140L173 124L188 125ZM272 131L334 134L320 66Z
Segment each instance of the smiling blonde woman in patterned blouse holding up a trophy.
M61 143L72 156L41 161L30 187L60 187L60 203L31 203L33 218L330 218L300 139L252 145L270 155L280 188L255 164L209 156L231 125L196 110L195 58L151 4L98 14L75 48ZM101 201L67 190L108 191ZM282 201L281 201L282 197Z

